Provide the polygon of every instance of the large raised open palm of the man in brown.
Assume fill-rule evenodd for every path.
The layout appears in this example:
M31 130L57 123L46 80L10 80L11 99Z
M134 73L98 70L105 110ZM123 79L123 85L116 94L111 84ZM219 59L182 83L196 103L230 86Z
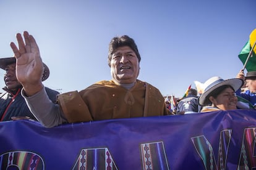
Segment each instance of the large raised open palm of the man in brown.
M43 88L41 77L43 75L43 62L40 51L32 35L27 31L23 37L17 33L16 38L19 48L11 42L11 48L16 58L16 76L28 96L36 94Z

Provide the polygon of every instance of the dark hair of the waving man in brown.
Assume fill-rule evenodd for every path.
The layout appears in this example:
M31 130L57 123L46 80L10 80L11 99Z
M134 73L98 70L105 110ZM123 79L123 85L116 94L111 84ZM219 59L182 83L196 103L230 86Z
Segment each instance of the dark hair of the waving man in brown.
M137 48L137 45L134 42L134 39L130 38L127 35L123 36L116 36L109 42L109 48L108 48L108 65L110 67L110 62L112 59L113 53L116 51L117 48L123 47L123 46L129 46L132 51L135 52L139 62L140 62L140 53Z

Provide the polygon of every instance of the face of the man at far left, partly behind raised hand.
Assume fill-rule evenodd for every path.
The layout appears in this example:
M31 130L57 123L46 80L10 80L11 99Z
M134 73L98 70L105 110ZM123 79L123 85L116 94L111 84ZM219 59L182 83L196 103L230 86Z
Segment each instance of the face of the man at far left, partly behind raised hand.
M21 86L16 78L15 67L15 63L7 65L6 73L4 74L4 82L6 83L7 89L10 89L12 91L15 91L17 87Z

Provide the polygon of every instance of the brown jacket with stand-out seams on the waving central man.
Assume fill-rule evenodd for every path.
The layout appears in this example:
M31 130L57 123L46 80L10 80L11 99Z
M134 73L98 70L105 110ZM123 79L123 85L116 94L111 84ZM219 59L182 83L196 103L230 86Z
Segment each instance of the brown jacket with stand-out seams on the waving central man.
M131 89L99 81L83 91L59 95L58 102L69 123L171 114L160 91L140 80Z

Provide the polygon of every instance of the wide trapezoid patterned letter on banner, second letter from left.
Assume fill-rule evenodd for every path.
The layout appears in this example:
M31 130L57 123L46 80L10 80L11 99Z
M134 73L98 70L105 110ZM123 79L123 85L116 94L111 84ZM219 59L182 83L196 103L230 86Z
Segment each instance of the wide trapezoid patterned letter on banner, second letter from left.
M82 149L73 169L117 170L108 148Z

